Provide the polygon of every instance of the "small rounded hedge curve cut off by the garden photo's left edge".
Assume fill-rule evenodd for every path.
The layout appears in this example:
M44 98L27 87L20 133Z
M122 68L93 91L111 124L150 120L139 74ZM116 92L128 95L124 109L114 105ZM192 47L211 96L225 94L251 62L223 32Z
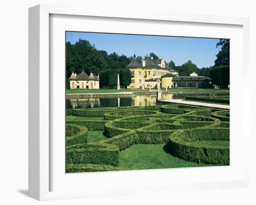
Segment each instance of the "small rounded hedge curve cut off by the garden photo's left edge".
M66 126L66 146L87 143L88 129L74 124Z

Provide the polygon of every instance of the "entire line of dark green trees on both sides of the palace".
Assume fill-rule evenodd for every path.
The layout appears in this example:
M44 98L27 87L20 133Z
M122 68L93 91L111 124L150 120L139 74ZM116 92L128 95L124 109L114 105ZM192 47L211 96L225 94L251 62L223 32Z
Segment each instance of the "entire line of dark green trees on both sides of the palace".
M229 39L220 39L216 47L221 46L221 50L216 55L215 64L212 67L199 69L191 60L176 66L174 61L167 64L179 72L179 76L189 76L192 72L200 76L207 76L212 79L212 83L226 88L229 85ZM143 59L158 56L151 52ZM100 75L101 88L115 88L117 85L117 73L119 73L120 84L126 88L131 82L129 69L125 68L133 60L133 56L118 55L116 52L108 54L107 51L97 50L88 40L79 39L74 45L66 43L66 77L70 77L74 71L77 74L84 70L87 74L93 72ZM139 63L142 57L137 56ZM67 86L69 83L67 83Z

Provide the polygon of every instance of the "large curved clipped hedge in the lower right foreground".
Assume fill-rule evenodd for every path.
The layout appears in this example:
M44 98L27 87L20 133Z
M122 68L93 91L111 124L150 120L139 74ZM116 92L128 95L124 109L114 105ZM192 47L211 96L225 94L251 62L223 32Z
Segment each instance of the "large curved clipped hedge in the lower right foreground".
M229 164L229 147L195 143L213 140L229 141L229 128L194 128L177 131L169 138L169 152L197 163Z

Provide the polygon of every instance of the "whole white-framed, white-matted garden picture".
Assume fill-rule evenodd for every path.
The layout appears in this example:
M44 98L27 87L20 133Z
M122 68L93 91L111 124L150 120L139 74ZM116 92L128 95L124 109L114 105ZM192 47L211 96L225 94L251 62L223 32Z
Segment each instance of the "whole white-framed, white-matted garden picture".
M248 186L248 46L246 18L30 8L29 196Z

